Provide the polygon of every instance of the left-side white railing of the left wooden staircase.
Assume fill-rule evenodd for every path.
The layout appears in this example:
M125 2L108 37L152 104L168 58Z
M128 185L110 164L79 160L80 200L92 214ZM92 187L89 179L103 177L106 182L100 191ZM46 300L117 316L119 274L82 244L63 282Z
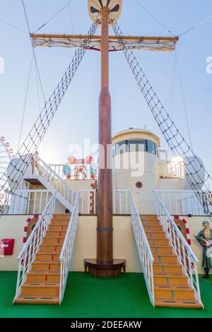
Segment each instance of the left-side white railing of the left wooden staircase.
M55 195L56 192L52 194L52 198L50 198L49 202L47 203L45 210L37 220L37 224L35 225L33 232L30 234L30 237L18 255L18 280L16 286L16 296L14 300L16 300L20 295L20 288L23 283L25 283L26 274L30 271L33 261L35 261L35 255L37 254L40 244L42 243L42 239L46 235L49 223L52 220L55 208Z

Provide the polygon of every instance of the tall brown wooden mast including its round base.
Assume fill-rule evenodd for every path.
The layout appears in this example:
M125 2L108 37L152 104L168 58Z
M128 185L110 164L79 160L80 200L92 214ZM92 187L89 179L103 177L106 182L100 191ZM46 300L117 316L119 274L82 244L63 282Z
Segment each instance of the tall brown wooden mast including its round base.
M91 275L117 276L125 271L125 260L113 259L112 244L112 133L111 98L109 90L109 16L101 10L101 90L99 97L99 172L97 205L97 259L85 259Z

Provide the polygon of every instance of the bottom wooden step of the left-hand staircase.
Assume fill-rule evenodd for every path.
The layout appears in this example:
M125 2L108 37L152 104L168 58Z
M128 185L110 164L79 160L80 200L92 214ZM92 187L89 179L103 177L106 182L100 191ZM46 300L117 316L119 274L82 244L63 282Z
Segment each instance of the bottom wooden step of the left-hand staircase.
M15 304L59 304L59 297L53 296L19 296Z

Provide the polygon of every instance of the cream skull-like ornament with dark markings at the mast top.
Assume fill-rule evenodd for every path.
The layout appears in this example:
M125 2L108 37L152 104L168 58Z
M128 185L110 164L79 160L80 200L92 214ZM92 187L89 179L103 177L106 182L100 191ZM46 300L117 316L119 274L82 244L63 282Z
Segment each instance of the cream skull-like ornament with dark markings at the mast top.
M88 13L93 22L100 15L101 9L108 7L110 10L110 24L113 24L115 20L118 20L122 12L122 0L88 0ZM101 18L98 21L98 25L101 25Z

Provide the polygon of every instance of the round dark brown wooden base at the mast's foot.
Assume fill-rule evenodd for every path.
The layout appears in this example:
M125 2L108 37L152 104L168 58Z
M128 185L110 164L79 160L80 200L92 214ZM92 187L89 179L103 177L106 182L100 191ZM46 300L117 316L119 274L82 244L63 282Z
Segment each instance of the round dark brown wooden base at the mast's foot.
M90 273L93 277L118 277L125 273L126 260L113 259L111 263L99 263L97 259L85 259L85 272Z

